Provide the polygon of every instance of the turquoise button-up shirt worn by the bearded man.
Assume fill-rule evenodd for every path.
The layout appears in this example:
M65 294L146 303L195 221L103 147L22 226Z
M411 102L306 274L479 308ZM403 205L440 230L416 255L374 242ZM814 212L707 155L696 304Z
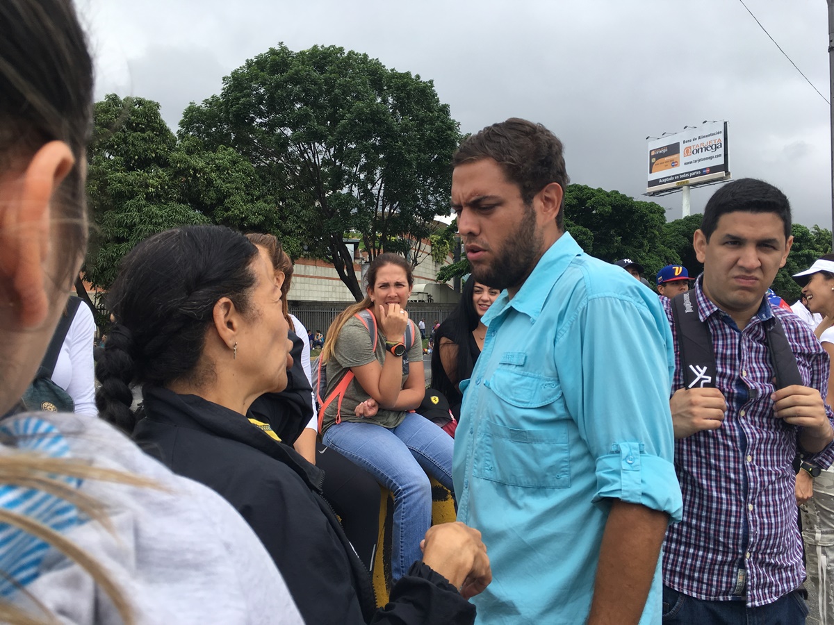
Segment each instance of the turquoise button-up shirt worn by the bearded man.
M484 323L453 470L492 564L478 622L585 622L610 499L681 517L666 313L565 233ZM661 592L658 563L641 623L661 622Z

